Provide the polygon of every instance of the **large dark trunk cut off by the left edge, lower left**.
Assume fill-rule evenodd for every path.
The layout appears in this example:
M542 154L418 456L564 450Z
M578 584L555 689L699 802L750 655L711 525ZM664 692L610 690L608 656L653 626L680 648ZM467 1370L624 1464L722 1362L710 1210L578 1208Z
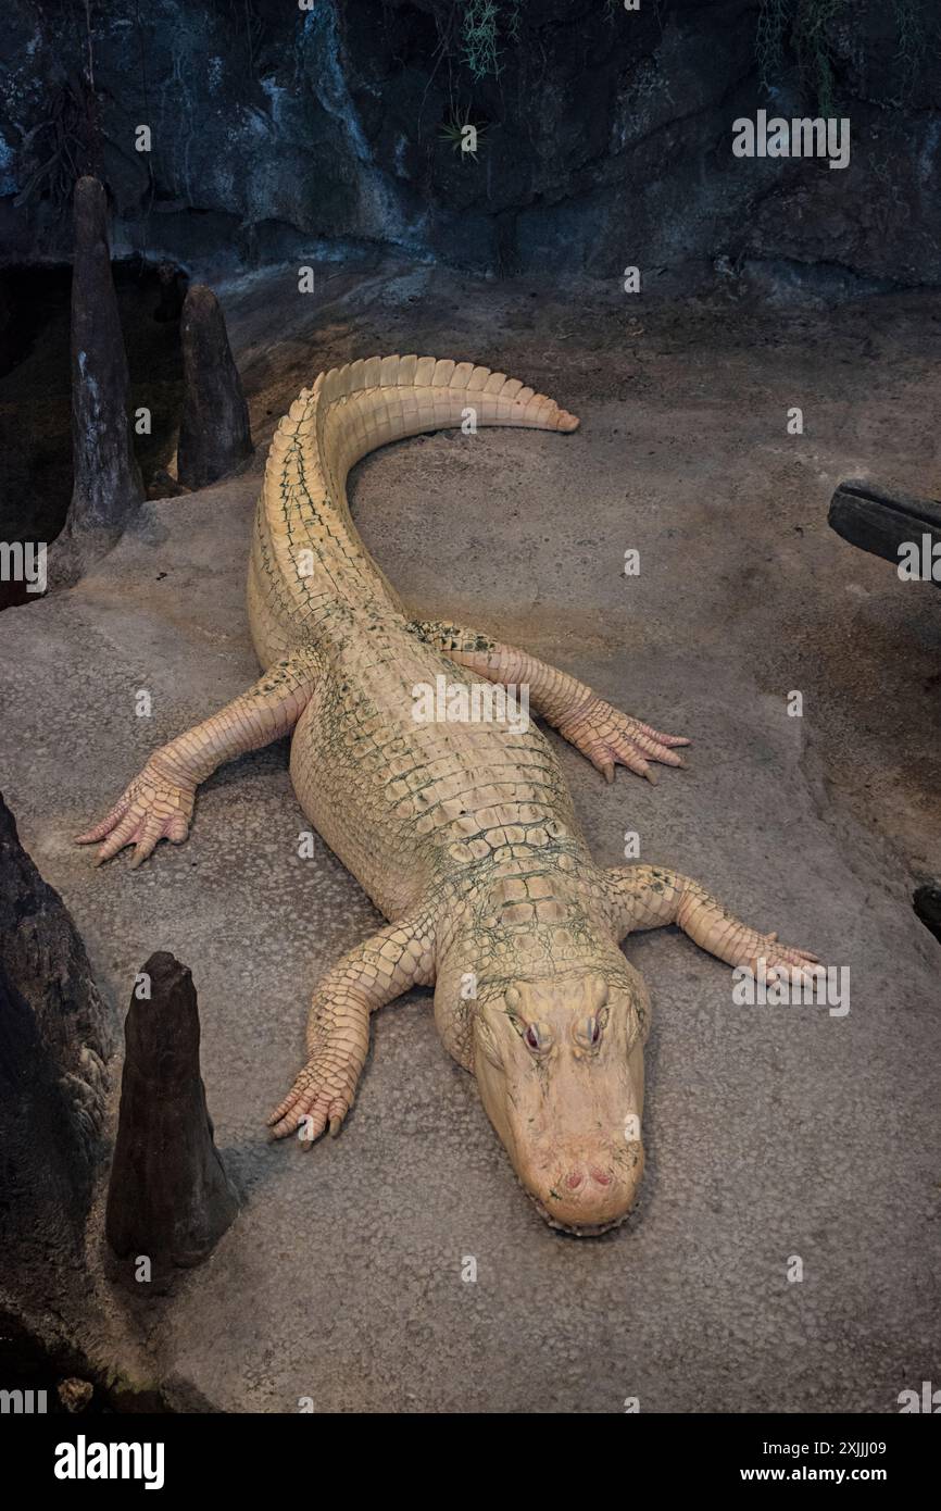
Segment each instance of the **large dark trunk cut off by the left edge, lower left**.
M82 937L0 798L0 1292L15 1316L80 1293L110 1049Z

